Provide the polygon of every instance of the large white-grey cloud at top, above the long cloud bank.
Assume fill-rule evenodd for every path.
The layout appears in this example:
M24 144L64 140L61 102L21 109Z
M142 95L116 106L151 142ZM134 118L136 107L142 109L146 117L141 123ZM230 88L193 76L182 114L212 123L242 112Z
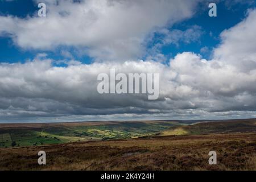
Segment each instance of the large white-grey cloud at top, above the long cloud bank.
M99 60L121 61L141 56L150 32L191 17L198 1L44 2L44 18L0 16L0 35L26 49L75 46Z

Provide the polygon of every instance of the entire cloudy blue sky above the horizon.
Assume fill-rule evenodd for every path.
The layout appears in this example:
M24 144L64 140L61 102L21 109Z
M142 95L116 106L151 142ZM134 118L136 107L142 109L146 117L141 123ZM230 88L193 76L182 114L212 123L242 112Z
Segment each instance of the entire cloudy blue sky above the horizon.
M255 32L253 0L0 0L0 122L255 118ZM99 94L112 68L158 100Z

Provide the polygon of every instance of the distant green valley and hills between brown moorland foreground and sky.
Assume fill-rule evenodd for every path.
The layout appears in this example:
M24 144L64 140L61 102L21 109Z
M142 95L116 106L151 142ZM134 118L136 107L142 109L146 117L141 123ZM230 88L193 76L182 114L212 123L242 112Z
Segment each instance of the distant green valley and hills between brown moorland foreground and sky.
M130 121L0 124L0 147L170 135L254 133L255 119L240 121Z

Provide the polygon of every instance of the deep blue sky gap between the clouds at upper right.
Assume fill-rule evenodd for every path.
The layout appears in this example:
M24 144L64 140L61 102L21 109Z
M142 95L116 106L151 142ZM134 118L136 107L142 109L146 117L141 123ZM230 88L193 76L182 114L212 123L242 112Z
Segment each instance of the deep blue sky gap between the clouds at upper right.
M255 4L250 7L254 6ZM220 33L241 22L241 19L245 18L247 9L247 5L241 4L234 5L232 9L229 9L229 7L225 5L225 2L220 2L217 4L217 17L208 16L209 9L204 9L197 12L193 18L174 24L172 28L177 28L179 30L185 30L185 28L196 24L197 26L202 27L203 34L197 42L179 44L178 47L175 45L168 45L163 48L163 53L171 53L172 55L186 51L201 53L200 49L202 47L208 47L209 52L201 53L205 59L208 59L211 49L220 43Z

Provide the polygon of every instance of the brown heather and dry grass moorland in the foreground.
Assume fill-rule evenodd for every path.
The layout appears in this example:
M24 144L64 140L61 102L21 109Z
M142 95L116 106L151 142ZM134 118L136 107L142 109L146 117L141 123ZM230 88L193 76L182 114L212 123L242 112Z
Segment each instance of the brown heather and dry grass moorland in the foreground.
M47 165L37 153L47 153ZM217 165L208 152L217 152ZM0 149L1 170L256 170L256 134L79 142Z

